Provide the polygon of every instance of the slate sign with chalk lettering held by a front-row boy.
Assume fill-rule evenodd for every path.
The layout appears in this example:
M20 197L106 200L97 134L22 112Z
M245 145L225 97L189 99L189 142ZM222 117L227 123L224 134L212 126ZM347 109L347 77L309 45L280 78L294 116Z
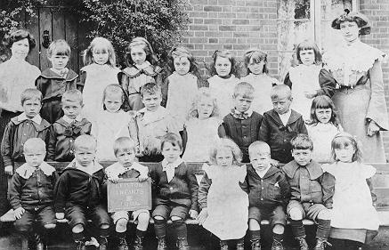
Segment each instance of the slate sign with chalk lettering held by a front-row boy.
M151 209L151 180L123 179L108 181L108 212Z

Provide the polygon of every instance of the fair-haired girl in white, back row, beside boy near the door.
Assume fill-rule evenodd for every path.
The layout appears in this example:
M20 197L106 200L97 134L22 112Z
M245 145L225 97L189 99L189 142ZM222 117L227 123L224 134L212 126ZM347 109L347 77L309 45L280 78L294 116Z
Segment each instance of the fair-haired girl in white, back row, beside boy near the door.
M80 69L83 87L84 116L93 121L102 109L102 93L108 85L118 85L116 55L112 44L103 37L95 37L84 54L85 67Z

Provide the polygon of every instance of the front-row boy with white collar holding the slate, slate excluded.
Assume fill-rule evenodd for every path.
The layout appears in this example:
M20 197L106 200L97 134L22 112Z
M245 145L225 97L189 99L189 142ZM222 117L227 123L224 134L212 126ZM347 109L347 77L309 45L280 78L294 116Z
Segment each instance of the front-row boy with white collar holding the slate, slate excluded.
M105 169L108 180L118 182L119 179L137 178L138 181L146 181L149 177L149 168L145 165L140 165L135 162L136 144L129 137L119 137L113 144L115 156L118 159L117 163L109 165ZM136 238L134 240L134 250L142 250L143 238L146 230L149 227L150 213L147 209L139 209L133 212L118 211L111 214L115 224L115 231L119 239L118 249L128 249L126 242L126 230L129 215L132 215L134 220L138 221L136 226Z

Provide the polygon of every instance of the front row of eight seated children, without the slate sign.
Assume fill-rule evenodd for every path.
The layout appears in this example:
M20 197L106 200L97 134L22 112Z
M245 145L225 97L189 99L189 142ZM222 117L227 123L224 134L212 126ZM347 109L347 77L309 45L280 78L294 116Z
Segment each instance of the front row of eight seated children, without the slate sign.
M143 249L148 228L148 210L132 213L107 213L105 185L120 178L152 180L155 233L158 250L166 249L166 221L172 220L180 250L190 249L185 219L197 218L199 224L220 238L221 249L228 249L228 240L237 240L237 249L244 249L247 228L251 249L261 249L261 220L269 219L273 232L272 250L282 246L287 216L292 232L307 250L304 218L317 222L315 250L328 245L334 249L358 249L365 238L374 237L378 229L377 213L372 205L367 180L375 169L361 164L361 149L348 133L338 133L332 141L335 163L320 166L312 160L312 140L297 134L291 141L294 160L282 169L271 165L271 149L263 141L248 148L251 165L239 165L242 154L230 139L220 139L210 150L210 163L205 165L198 185L193 171L186 165L182 141L178 134L166 133L161 139L162 162L150 170L135 162L136 144L128 137L115 141L118 163L104 170L95 160L93 136L77 137L75 159L61 177L53 166L44 162L45 142L28 139L23 145L26 163L13 174L9 188L15 211L15 226L32 235L32 224L38 222L36 243L43 249L48 230L55 228L55 219L67 218L77 249L85 249L87 219L98 229L99 249L107 249L111 219L115 223L118 249L128 249L126 225L130 216L138 220L134 249ZM248 194L248 195L247 195ZM198 197L199 196L199 197ZM200 213L198 211L200 209ZM247 226L248 220L248 226ZM330 227L332 227L330 230Z

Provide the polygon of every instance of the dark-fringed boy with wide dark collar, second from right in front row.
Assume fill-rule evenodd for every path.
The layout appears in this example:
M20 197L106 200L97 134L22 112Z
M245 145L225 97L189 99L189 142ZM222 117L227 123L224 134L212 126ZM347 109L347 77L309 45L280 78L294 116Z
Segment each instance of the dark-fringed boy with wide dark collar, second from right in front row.
M303 219L311 219L318 224L315 250L324 250L330 229L329 210L323 205L322 187L327 187L320 164L312 160L313 142L306 134L297 134L292 139L292 155L295 158L282 170L290 185L291 198L287 213L292 233L301 250L308 250L305 241Z

